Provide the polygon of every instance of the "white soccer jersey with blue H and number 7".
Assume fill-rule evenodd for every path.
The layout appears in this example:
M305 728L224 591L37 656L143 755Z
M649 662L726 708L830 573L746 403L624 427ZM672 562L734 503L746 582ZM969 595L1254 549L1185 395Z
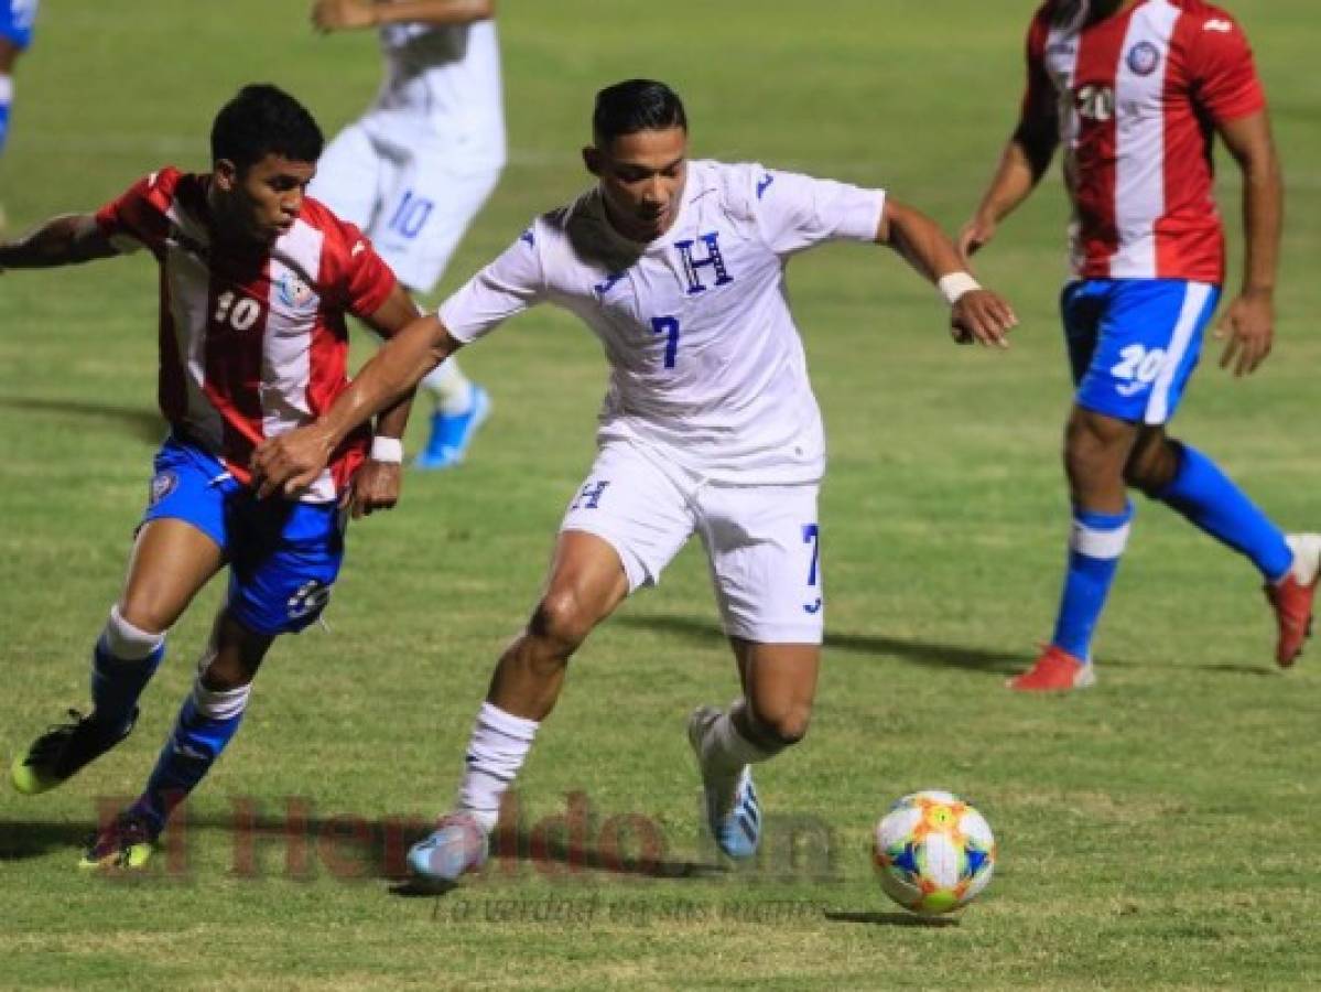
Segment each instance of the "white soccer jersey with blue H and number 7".
M621 238L593 189L538 218L439 316L468 342L534 304L559 304L610 363L598 443L638 443L717 482L812 482L826 444L785 264L824 240L875 239L884 198L695 161L662 238Z

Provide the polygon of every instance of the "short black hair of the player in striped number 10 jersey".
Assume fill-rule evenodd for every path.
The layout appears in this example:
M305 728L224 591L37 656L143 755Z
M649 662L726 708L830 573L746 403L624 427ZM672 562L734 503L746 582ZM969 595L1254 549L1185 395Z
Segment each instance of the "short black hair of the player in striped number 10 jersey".
M229 159L239 172L272 153L314 162L324 145L321 128L306 108L269 83L244 86L211 124L211 161Z

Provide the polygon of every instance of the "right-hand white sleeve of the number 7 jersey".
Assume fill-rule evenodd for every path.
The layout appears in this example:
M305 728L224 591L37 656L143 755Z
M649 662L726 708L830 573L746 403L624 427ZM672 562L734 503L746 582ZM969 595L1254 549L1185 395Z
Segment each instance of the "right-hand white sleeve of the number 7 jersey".
M761 168L754 182L757 227L777 255L826 240L876 240L884 190Z

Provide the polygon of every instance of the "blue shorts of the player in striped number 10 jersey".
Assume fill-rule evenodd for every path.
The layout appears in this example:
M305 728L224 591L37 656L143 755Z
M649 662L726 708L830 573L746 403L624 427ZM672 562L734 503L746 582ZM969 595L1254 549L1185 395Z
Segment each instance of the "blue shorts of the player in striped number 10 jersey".
M234 620L275 635L303 630L321 616L343 561L338 506L258 499L215 457L173 436L155 465L143 523L186 520L221 547Z

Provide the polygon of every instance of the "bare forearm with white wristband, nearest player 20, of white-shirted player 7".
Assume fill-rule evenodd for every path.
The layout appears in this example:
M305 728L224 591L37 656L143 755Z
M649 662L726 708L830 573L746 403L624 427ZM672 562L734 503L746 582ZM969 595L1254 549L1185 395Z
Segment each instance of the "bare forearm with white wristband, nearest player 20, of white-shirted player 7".
M960 345L978 341L1008 347L1005 336L1018 318L1000 296L983 289L963 269L959 252L939 225L919 210L885 198L876 240L889 244L935 283L950 304L950 329Z

